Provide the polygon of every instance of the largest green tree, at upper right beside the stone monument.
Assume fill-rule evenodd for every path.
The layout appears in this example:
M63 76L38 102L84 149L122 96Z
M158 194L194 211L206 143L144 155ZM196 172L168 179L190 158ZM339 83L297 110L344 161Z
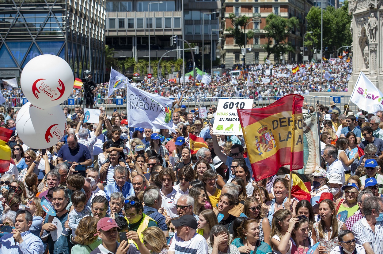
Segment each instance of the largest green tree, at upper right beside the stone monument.
M307 34L304 41L305 47L321 49L321 8L311 7L307 14ZM337 54L339 47L351 45L352 35L350 32L351 16L349 15L349 3L344 1L343 6L335 9L327 6L323 10L323 53Z

